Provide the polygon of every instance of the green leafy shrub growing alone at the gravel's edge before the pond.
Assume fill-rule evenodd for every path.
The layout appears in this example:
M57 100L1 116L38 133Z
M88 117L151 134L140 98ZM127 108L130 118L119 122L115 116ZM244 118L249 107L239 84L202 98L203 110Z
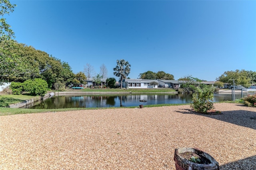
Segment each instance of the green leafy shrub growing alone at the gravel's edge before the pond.
M214 90L214 87L197 87L196 93L192 95L193 103L190 104L190 107L201 113L207 113L208 110L214 109L212 103Z

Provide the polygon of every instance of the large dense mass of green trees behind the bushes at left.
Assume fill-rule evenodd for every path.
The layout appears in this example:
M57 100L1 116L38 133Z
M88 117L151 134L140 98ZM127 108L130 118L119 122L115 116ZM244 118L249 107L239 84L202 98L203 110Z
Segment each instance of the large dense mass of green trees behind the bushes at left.
M24 82L42 78L49 88L56 89L71 82L74 73L68 63L62 62L46 52L14 40L0 41L0 82Z

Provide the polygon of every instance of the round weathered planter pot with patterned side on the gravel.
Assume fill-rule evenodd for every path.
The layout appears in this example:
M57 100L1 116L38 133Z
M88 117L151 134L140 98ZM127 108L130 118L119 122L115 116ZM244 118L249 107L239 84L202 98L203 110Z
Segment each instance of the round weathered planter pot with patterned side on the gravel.
M184 158L186 154L195 154L206 160L207 163L195 163ZM219 170L219 163L210 154L194 148L178 148L174 151L176 170Z

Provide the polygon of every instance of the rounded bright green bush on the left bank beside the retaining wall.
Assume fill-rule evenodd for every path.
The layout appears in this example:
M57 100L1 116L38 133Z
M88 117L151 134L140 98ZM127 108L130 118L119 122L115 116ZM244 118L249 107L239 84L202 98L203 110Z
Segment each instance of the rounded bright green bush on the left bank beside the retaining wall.
M34 96L44 96L47 92L48 84L41 78L35 78L34 80L26 80L23 83L24 90L30 92Z

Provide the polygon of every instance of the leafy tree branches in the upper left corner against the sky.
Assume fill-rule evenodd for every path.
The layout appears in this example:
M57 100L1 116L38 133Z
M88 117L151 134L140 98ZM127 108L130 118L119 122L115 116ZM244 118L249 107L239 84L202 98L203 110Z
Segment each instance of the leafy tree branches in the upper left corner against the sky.
M0 0L0 16L9 15L10 12L14 11L15 6L9 0ZM9 40L14 37L14 32L10 27L5 18L0 18L0 41Z

